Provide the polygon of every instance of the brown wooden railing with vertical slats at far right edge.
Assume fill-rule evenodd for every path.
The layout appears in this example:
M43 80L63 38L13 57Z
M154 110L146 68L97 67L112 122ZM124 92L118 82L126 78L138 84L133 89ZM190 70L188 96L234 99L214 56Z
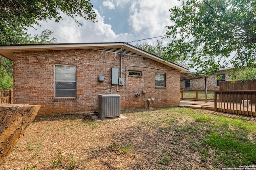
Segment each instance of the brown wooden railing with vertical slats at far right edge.
M255 98L256 90L215 91L214 111L256 116Z

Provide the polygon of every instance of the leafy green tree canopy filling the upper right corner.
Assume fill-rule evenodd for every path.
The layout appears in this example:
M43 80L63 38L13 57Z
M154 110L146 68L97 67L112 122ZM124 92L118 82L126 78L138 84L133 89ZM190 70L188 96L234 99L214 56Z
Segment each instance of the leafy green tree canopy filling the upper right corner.
M186 0L169 11L167 60L189 60L190 68L206 75L255 66L255 0Z

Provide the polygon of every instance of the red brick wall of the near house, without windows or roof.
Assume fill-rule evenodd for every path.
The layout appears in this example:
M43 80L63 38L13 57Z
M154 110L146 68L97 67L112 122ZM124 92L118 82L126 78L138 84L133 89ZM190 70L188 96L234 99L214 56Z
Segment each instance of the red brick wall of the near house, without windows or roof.
M54 98L54 64L76 66L76 98ZM120 94L121 109L148 107L147 99L154 98L150 107L177 106L180 104L180 72L148 58L125 56L122 72L124 86L111 85L111 68L119 68L116 53L96 50L32 51L14 53L13 103L41 105L38 115L74 113L98 110L98 94ZM143 67L137 67L143 66ZM144 68L152 67L152 68ZM142 76L128 76L128 70L138 70ZM155 73L166 74L166 87L155 87ZM104 75L105 81L98 82ZM118 87L117 87L118 86ZM142 94L146 90L146 94ZM136 97L136 92L141 96Z

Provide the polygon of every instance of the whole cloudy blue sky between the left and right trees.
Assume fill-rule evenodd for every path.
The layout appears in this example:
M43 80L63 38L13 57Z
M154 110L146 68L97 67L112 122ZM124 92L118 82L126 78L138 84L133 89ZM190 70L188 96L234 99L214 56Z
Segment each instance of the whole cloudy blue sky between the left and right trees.
M28 29L32 35L44 29L54 31L58 43L129 42L165 35L171 25L168 10L180 6L177 0L90 0L97 14L97 23L77 18L81 27L68 16L63 20L41 21L41 27ZM158 38L160 39L160 38ZM157 38L132 43L156 42ZM167 43L164 40L163 43Z

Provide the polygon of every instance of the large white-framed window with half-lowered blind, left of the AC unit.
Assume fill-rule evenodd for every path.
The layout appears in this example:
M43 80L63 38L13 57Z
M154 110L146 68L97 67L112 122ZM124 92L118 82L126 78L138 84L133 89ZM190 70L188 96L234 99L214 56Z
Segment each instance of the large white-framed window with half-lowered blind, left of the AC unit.
M55 97L76 97L76 66L55 65Z

